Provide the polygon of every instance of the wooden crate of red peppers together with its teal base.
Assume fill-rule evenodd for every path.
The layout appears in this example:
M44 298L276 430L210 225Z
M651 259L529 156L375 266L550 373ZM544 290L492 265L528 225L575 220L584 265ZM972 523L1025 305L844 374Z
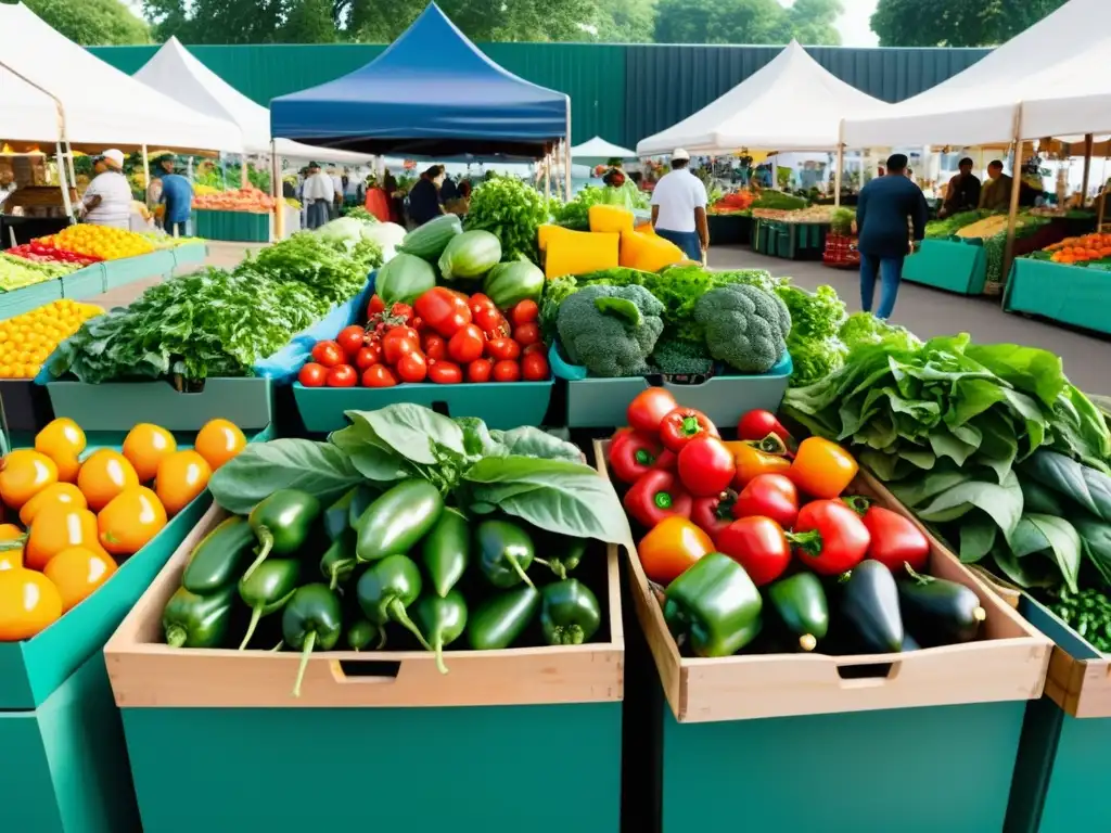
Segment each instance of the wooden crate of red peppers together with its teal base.
M607 445L594 445L603 473ZM909 516L868 474L850 491ZM930 542L929 572L977 592L985 638L854 656L681 656L629 553L637 618L667 700L652 715L658 829L725 830L743 812L754 830L1002 830L1025 701L1041 695L1051 643Z

